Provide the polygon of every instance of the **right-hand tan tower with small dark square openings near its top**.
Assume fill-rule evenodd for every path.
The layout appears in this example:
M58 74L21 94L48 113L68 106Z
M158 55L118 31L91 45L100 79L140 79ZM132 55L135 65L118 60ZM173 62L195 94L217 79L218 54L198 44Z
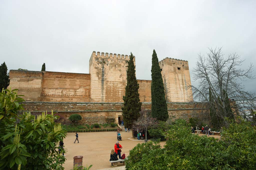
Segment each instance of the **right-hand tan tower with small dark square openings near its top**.
M193 101L188 61L168 58L159 61L167 102Z

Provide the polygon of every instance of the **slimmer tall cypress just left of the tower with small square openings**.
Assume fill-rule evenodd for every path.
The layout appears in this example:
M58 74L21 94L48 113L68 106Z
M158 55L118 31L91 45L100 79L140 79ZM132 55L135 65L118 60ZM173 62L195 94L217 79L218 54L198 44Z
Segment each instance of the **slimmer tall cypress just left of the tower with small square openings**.
M162 79L161 69L158 64L156 51L152 54L151 67L151 114L152 117L160 121L167 121L169 118L167 111L167 103L165 99L164 83Z

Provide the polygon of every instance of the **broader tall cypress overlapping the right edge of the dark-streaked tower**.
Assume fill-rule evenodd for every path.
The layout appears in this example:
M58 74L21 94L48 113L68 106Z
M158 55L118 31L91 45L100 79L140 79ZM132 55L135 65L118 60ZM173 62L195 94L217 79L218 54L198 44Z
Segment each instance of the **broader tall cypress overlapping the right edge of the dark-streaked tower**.
M139 84L136 80L133 58L131 53L130 60L128 61L125 96L123 96L124 106L122 107L124 125L127 128L132 128L133 122L140 117L142 104L140 102L140 94L138 93Z

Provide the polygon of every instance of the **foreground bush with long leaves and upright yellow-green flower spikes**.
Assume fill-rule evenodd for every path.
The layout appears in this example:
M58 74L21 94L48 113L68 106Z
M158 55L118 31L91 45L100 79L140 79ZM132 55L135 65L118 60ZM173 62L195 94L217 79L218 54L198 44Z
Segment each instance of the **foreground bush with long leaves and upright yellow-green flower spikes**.
M21 169L64 169L66 159L58 153L58 142L67 134L55 122L58 116L18 115L22 101L16 90L0 93L0 169L17 169L19 164Z

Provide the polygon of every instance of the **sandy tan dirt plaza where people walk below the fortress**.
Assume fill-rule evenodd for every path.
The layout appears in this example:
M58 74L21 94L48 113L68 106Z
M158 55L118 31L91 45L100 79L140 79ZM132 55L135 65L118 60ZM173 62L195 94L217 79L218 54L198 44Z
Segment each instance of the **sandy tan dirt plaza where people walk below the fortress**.
M132 137L132 132L120 132L122 136L122 154L125 153L126 156L129 155L129 150L131 150L138 143L144 142L144 140L130 140L128 138ZM83 156L83 166L93 165L90 170L111 168L110 152L114 149L114 145L117 141L116 132L81 132L79 135L79 143L73 143L76 137L75 133L68 133L67 137L63 140L65 149L67 149L66 162L63 164L65 169L69 170L73 168L73 157L82 155ZM202 135L202 134L201 134ZM211 135L210 135L211 136ZM213 135L211 137L219 138L218 135ZM161 142L163 146L165 142ZM120 164L119 166L123 166Z

